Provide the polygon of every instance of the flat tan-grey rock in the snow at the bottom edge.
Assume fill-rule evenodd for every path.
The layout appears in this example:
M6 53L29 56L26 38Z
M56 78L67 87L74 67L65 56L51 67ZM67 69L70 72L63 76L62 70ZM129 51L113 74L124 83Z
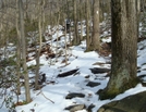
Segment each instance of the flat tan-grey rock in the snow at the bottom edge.
M75 112L85 109L85 104L75 104L75 105L70 105L66 107L64 110L69 110L70 112Z

